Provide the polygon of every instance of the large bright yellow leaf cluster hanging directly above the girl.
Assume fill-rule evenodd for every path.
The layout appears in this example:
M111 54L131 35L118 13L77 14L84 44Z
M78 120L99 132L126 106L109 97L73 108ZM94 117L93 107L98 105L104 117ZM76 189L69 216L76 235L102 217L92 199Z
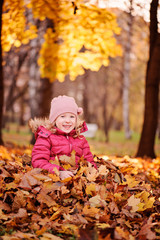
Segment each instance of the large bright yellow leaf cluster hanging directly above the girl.
M121 55L121 47L114 38L120 28L116 16L106 9L78 1L78 10L73 14L69 1L48 0L47 5L31 2L35 17L48 16L54 22L54 32L48 29L45 33L38 60L43 77L62 82L70 74L71 80L75 80L77 75L84 74L84 68L98 71L102 64L109 64L110 56Z

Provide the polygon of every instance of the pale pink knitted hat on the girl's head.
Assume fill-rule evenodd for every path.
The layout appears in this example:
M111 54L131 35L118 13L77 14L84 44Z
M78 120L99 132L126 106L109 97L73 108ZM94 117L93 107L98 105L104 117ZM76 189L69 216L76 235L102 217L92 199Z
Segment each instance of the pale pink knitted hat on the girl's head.
M59 115L66 112L73 113L77 116L83 113L83 109L77 106L72 97L63 95L53 98L49 114L50 122L54 122Z

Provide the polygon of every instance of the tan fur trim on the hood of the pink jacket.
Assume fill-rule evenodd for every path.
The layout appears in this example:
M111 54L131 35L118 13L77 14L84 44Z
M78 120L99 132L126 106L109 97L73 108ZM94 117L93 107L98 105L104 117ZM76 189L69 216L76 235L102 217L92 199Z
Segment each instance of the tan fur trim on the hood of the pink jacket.
M47 130L51 131L52 133L55 133L55 129L53 128L53 124L50 122L48 118L34 118L30 119L28 122L28 125L31 129L31 131L35 134L40 126L46 128ZM88 130L87 125L84 121L78 121L77 129L80 130L80 132L85 132Z

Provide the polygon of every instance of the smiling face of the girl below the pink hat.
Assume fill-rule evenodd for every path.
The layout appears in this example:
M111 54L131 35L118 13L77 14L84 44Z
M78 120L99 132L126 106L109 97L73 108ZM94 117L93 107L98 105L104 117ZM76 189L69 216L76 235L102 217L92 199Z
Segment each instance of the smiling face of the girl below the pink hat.
M56 126L65 133L71 132L76 126L76 116L73 113L63 113L57 117Z

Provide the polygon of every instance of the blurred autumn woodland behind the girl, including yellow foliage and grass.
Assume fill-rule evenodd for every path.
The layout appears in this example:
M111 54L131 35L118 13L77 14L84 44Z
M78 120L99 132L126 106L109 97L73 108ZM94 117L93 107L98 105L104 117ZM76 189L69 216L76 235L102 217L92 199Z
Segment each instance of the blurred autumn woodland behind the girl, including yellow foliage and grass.
M158 1L4 0L4 143L33 143L29 119L47 117L51 99L68 95L84 109L95 154L134 156L144 121L151 3L158 26ZM155 128L160 156L160 110Z

